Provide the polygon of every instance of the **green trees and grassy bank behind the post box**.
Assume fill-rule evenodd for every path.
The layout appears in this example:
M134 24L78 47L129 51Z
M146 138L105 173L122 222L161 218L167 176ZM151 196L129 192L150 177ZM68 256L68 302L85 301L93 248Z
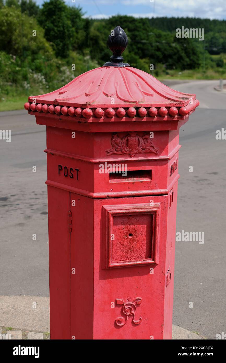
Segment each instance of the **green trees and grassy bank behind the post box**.
M93 20L63 0L0 0L0 109L3 101L57 89L102 66L116 25L126 31L124 60L160 78L220 78L226 72L226 21L198 18ZM176 29L204 28L205 38L177 38ZM153 64L154 70L150 70Z

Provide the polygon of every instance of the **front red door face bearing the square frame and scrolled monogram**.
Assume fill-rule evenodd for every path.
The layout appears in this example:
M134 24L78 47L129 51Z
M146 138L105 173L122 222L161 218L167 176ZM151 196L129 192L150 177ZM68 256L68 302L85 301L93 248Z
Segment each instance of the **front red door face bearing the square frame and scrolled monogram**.
M163 339L168 207L164 195L94 202L94 339Z

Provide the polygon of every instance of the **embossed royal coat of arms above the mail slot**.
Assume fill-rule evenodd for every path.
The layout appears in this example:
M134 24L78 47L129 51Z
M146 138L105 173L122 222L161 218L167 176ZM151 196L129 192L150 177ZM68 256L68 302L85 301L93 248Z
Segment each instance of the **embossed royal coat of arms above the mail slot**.
M148 152L158 154L157 151L159 150L153 146L149 134L139 136L136 132L129 132L129 134L123 136L123 138L120 138L116 133L112 134L111 145L112 148L106 150L107 155L129 154L132 157L136 154Z

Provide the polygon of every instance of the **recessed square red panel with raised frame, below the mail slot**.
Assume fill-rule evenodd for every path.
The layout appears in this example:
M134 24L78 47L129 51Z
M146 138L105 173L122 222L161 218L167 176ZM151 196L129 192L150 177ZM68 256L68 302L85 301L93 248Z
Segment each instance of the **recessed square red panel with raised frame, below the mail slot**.
M105 268L157 264L160 203L103 206Z

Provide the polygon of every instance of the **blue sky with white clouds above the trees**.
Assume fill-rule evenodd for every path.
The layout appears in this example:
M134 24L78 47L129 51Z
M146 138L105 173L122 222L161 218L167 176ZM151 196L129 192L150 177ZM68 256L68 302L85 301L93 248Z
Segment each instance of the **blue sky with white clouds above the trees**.
M37 4L42 2L43 0L37 0ZM86 16L95 19L116 14L136 17L189 16L226 19L226 0L66 0L65 2L80 5Z

